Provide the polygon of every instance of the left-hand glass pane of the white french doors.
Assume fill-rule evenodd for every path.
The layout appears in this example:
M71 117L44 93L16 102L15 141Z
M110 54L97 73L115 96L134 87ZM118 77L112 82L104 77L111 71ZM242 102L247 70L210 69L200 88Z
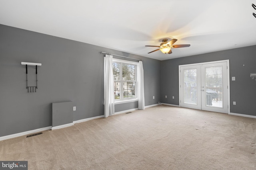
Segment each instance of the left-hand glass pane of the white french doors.
M197 104L196 69L184 70L184 103Z

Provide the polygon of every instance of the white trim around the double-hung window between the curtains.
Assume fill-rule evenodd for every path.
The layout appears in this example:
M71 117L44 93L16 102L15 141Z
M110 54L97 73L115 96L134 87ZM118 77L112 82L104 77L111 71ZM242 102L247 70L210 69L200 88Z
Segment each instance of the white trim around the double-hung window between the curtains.
M134 61L127 61L127 60L121 60L121 59L114 59L112 60L112 63L124 63L124 64L133 64L136 66L135 70L135 74L136 74L136 80L135 80L135 86L136 86L136 91L135 91L135 98L125 98L125 99L114 99L114 103L115 104L122 104L122 103L128 103L128 102L136 102L138 101L138 76L137 76L137 72L138 72L138 67L139 67L139 63L138 62L134 62ZM120 82L121 82L121 78L120 77ZM115 80L114 80L115 82ZM114 83L113 82L113 83ZM121 93L121 92L120 92Z

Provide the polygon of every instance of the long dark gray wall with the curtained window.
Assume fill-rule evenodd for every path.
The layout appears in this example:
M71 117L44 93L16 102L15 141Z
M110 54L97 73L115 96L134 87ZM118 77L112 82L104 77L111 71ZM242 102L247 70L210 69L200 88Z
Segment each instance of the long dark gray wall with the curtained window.
M72 101L73 121L104 115L100 51L144 60L145 106L160 102L158 60L0 25L0 137L51 126L52 103ZM26 66L21 62L42 63L36 93L26 90ZM119 104L116 109L136 107Z

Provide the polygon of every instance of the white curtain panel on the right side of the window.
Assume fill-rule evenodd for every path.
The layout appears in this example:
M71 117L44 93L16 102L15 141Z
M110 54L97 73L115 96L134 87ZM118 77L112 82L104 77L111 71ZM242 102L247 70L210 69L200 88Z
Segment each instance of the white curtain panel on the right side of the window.
M137 71L138 75L138 109L145 109L145 100L144 100L144 71L142 61L139 61L139 69Z

